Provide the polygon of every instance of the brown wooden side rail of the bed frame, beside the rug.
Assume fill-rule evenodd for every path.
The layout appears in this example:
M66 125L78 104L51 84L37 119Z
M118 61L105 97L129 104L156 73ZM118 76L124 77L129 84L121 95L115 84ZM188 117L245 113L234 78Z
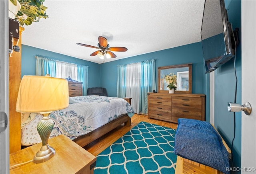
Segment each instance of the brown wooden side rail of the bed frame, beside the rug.
M131 126L131 118L127 114L120 115L116 119L110 121L106 125L103 125L102 127L99 127L95 129L92 132L89 132L85 135L82 135L81 137L78 137L74 139L73 141L80 145L81 147L84 147L91 143L92 141L100 138L102 135L108 133L109 131L112 131L116 127L122 125L124 123L125 126Z

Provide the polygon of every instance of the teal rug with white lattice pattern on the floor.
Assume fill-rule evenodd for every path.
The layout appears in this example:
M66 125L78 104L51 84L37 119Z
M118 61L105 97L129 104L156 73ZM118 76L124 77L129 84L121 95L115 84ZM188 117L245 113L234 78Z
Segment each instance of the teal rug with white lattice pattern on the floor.
M97 156L94 174L174 174L176 130L140 122Z

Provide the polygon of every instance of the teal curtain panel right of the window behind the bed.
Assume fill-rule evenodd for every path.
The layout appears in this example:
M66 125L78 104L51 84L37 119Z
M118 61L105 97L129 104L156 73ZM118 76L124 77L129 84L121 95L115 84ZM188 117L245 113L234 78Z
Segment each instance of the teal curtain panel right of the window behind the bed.
M77 79L83 82L83 95L87 95L89 66L77 65Z

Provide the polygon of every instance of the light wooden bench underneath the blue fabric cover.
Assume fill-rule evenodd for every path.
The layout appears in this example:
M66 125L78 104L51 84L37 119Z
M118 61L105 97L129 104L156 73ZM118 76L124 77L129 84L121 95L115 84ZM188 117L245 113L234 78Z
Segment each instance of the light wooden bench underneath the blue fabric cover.
M214 127L214 125L212 125L212 127ZM214 129L217 131L215 127ZM230 148L228 147L228 145L226 144L226 142L222 137L221 139L222 139L223 145L228 151L229 158L231 158ZM223 173L212 167L177 156L175 174L223 174Z

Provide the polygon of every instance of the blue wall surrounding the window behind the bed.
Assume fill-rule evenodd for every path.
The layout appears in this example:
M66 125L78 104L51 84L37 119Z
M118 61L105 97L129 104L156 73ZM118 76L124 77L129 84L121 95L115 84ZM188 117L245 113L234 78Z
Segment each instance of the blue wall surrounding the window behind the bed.
M88 70L88 88L100 87L100 64L90 61L84 61L67 55L54 53L52 51L46 51L27 45L22 45L21 54L21 77L24 75L36 75L36 58L35 56L45 57L48 59L54 59L58 61L64 61L69 63L75 63L80 65L89 66Z

